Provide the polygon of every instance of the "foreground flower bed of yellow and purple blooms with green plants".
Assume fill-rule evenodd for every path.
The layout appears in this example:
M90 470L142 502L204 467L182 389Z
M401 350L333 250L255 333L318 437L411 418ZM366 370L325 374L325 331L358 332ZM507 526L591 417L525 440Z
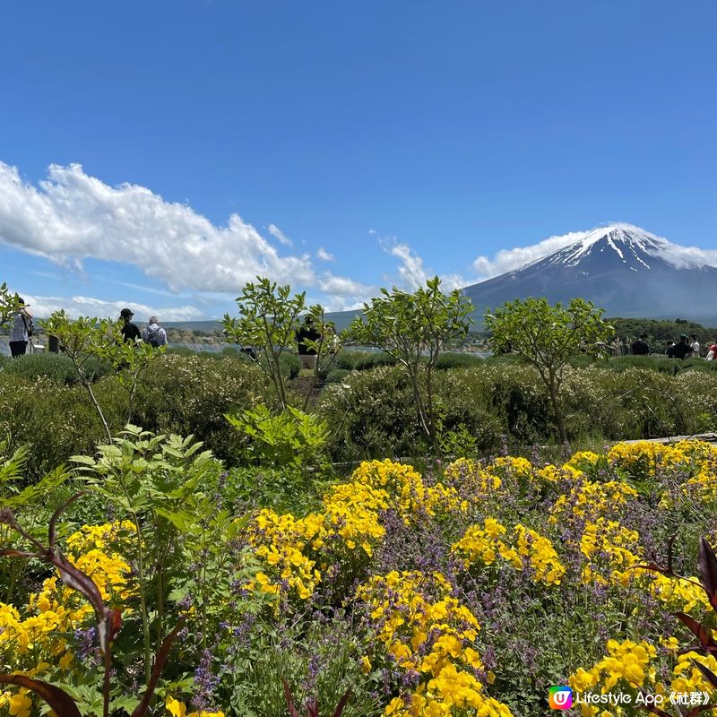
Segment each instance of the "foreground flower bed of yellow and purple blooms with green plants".
M551 686L631 700L569 711L583 715L644 713L635 703L650 695L678 717L688 708L670 694L712 699L697 663L717 661L684 651L695 638L674 615L715 627L695 577L698 540L717 528L708 444L618 444L555 464L462 458L422 474L363 462L300 515L240 514L210 454L138 445L84 460L91 510L107 519L68 517L60 537L122 613L113 713L132 713L178 620L153 714L288 714L284 679L299 713L316 698L332 714L350 689L349 717L531 717L551 713ZM3 520L0 547L27 549ZM654 569L668 561L686 577ZM101 714L91 604L38 561L6 557L3 569L2 671ZM0 693L0 714L47 710L26 688Z

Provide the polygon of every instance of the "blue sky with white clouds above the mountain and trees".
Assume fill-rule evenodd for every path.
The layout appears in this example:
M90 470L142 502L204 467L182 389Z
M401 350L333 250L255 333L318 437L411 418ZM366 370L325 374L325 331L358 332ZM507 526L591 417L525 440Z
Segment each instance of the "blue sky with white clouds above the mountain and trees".
M348 308L612 221L717 249L713 2L29 1L0 24L0 281L39 314L213 318L256 273Z

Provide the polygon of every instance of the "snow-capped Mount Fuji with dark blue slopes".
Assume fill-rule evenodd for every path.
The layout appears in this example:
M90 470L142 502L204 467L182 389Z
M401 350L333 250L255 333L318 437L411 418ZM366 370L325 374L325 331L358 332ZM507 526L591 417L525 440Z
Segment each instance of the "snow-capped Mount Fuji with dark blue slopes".
M683 317L717 325L717 268L708 263L717 263L717 252L672 244L630 224L565 239L566 246L549 255L462 289L476 320L488 307L515 298L566 304L581 297L609 316Z

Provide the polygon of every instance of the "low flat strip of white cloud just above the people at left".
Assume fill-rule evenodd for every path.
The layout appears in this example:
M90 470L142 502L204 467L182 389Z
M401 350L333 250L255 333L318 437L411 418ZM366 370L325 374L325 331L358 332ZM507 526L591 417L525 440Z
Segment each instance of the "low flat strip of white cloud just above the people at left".
M25 294L23 298L30 304L32 315L39 318L47 318L54 311L65 309L71 318L82 315L117 319L119 312L125 307L132 309L137 324L146 322L152 315L158 315L160 321L197 321L205 318L202 311L190 306L162 308L146 304L125 304L121 301L103 301L91 297L42 297L34 294Z

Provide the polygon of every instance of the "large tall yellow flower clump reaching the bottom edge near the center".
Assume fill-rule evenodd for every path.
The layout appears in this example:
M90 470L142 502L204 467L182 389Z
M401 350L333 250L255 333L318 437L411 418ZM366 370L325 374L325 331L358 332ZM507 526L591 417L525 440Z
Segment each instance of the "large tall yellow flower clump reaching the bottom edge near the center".
M412 694L393 698L384 715L437 717L466 708L491 717L511 714L483 693L476 675L483 664L470 646L478 620L452 592L443 574L417 571L376 575L359 586L357 598L376 621L378 642L401 669L419 675ZM368 657L364 664L370 669ZM489 683L494 678L486 674Z

